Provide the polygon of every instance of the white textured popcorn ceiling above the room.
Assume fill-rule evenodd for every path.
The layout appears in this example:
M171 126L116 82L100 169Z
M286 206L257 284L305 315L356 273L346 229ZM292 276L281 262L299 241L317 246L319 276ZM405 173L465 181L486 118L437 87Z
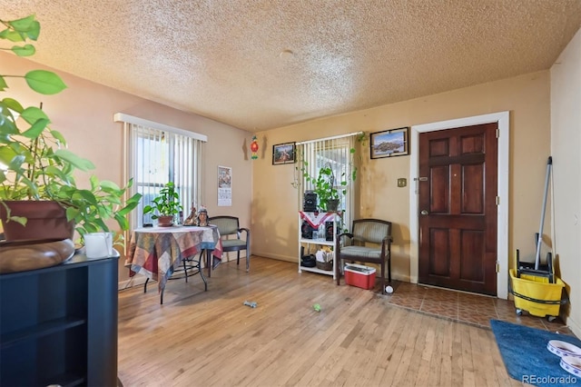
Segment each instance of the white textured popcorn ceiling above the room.
M34 61L260 131L548 69L581 0L0 0L32 13Z

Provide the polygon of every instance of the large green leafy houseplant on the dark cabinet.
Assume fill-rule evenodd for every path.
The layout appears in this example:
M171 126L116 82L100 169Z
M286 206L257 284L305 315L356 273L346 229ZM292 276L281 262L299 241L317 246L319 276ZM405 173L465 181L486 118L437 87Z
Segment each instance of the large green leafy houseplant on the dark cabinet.
M34 15L22 19L4 21L0 25L0 39L12 42L10 48L15 55L34 55L35 41L40 34L40 24ZM0 47L2 48L2 47ZM52 72L30 71L24 75L0 74L0 93L6 93L6 79L24 78L28 86L39 94L57 94L66 85ZM110 181L100 181L90 177L90 188L79 188L74 173L94 169L89 160L79 157L66 149L64 136L52 129L50 120L41 107L27 106L14 98L5 96L0 100L0 213L7 223L25 226L28 219L18 216L11 204L20 201L53 201L65 209L66 219L74 223L80 234L108 232L106 223L114 219L122 230L129 223L126 214L139 203L137 193L123 203L126 190L131 186L119 187ZM72 236L72 235L71 235ZM34 238L33 238L34 239Z

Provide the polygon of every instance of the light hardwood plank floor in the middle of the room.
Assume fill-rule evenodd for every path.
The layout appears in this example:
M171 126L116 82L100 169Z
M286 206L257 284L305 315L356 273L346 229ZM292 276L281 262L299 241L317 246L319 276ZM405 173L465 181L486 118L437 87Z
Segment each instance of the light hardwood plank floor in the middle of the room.
M389 304L296 263L252 257L119 295L119 378L131 386L510 386L494 334ZM256 302L251 308L244 301ZM321 311L312 305L319 303Z

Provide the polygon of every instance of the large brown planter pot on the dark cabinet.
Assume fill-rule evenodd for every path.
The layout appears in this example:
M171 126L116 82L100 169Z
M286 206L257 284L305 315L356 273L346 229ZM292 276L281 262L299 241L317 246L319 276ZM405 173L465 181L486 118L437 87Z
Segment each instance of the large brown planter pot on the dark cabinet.
M6 222L6 209L0 203L0 219L4 227L5 240L21 241L62 241L73 239L74 222L66 221L64 208L50 201L5 201L12 216L28 219L23 226L16 222Z

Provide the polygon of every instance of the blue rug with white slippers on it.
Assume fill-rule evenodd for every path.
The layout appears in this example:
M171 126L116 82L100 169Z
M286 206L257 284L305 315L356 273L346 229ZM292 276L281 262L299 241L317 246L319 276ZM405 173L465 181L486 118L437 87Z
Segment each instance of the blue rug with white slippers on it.
M581 348L581 341L576 337L498 320L490 320L490 326L513 379L536 386L581 386L581 379L563 370L559 365L561 359L547 350L551 340Z

